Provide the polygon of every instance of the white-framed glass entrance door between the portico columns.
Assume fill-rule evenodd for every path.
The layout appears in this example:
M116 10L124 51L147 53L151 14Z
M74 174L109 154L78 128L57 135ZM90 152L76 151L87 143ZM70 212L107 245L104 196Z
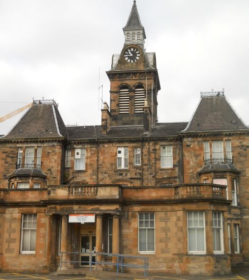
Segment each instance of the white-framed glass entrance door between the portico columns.
M96 251L96 235L81 235L80 244L80 265L89 266L90 261L92 262L91 265L95 265L96 255L90 256L90 253Z

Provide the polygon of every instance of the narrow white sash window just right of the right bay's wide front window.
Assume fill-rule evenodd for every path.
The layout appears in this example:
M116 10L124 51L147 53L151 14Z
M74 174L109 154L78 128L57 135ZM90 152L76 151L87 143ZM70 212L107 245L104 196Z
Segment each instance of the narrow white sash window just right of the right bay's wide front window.
M223 240L223 218L222 212L212 212L212 228L213 228L213 254L224 253L224 240ZM220 248L217 248L220 241Z

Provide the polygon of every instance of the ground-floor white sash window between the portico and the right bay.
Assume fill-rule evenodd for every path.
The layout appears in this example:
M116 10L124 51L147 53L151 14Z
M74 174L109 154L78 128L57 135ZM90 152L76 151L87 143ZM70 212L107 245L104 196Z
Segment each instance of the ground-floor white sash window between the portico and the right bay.
M141 249L140 233L146 233L146 249ZM148 249L148 232L153 233L153 250ZM138 213L138 253L139 254L154 254L155 253L155 214L154 212L139 212Z

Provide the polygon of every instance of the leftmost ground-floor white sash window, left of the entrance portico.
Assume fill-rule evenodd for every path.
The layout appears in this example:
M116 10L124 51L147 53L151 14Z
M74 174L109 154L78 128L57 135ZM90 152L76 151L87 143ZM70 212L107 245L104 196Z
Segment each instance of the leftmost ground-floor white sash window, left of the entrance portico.
M26 216L27 215L27 216ZM24 220L24 217L27 217L27 220ZM30 219L31 220L30 220ZM35 219L34 219L35 218ZM27 222L27 227L24 227L24 222ZM28 227L30 225L32 227ZM32 231L35 231L37 234L37 214L22 214L22 223L21 223L21 246L20 246L20 253L21 254L35 254L36 250L31 250L31 238L32 238ZM23 250L23 235L24 232L29 232L29 237L28 237L28 250ZM36 243L36 240L35 240ZM36 247L36 246L35 246ZM35 248L36 249L36 248Z

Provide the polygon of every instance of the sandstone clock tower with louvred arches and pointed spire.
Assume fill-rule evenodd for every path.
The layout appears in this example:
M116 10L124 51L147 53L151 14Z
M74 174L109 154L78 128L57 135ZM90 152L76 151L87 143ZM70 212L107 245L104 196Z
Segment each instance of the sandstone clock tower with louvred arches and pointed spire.
M146 52L144 27L136 1L126 26L120 54L113 54L110 79L111 126L144 126L145 131L157 122L157 95L160 90L154 52Z

